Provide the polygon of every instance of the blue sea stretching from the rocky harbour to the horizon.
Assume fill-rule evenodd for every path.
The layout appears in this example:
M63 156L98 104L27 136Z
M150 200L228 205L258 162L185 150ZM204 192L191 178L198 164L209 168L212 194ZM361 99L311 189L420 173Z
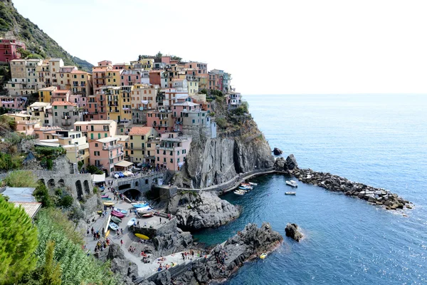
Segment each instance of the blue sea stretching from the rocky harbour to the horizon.
M383 187L413 202L390 211L362 199L265 175L244 196L223 199L241 216L194 234L225 241L248 223L288 223L305 235L285 237L265 259L247 262L226 284L427 284L427 95L244 95L270 147L299 167ZM404 217L404 214L407 217Z

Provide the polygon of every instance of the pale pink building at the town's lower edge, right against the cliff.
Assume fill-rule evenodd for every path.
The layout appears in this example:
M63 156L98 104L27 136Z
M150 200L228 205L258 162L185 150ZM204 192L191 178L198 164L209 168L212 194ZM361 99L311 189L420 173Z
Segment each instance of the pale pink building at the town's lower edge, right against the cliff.
M173 172L184 165L184 159L190 150L191 137L181 137L178 133L164 133L156 147L156 167Z

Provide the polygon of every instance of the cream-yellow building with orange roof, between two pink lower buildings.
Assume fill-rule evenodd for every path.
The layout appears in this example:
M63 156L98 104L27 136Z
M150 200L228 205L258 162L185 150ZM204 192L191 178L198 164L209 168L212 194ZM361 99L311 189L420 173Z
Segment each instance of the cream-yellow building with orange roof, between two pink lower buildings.
M127 151L131 162L147 164L154 162L157 131L151 127L132 127Z

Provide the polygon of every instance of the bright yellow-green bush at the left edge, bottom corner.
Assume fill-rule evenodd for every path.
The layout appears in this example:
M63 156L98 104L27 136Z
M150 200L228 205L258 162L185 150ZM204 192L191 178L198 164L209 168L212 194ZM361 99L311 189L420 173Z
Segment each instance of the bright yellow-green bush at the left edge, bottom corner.
M37 229L22 207L0 195L0 284L14 284L36 266Z

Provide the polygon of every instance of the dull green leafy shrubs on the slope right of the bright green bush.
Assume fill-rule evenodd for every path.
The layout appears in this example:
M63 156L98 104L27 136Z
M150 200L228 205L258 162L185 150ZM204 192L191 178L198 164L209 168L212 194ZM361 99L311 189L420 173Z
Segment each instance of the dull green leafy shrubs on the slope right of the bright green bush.
M118 284L117 277L107 268L107 264L88 256L82 249L81 234L75 232L74 225L63 212L56 209L42 209L37 219L39 246L36 249L38 267L46 264L48 242L55 242L53 260L61 264L63 285L103 284L111 279Z

